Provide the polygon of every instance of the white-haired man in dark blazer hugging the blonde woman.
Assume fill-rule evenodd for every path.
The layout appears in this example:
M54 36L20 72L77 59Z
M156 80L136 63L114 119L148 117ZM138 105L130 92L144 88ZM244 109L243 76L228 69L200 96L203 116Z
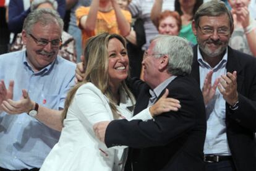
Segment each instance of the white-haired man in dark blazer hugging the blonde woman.
M142 62L145 83L137 79L129 83L137 98L134 114L150 108L165 89L181 102L179 111L147 122L124 119L95 125L106 146L130 147L126 170L204 170L205 105L198 83L189 76L192 56L183 38L160 36L151 42Z

